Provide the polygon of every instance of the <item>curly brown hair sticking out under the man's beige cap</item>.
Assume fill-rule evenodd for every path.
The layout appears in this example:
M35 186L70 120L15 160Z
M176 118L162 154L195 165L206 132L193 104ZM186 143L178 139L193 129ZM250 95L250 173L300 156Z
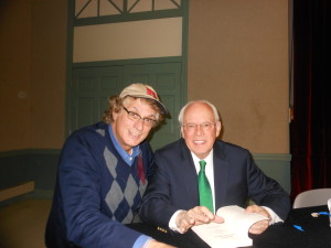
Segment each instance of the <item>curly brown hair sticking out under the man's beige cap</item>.
M113 112L119 112L121 110L121 108L124 107L124 103L127 101L127 99L137 99L138 97L131 97L131 96L127 96L124 98L119 98L118 96L110 96L108 98L108 109L104 111L103 115L103 121L107 125L113 123L114 118L113 118ZM156 117L157 117L157 123L154 125L154 127L157 127L159 123L161 123L164 119L164 116L160 109L160 107L156 104L156 101L151 100L151 99L146 99L146 98L139 98L143 104L149 105L156 112Z

